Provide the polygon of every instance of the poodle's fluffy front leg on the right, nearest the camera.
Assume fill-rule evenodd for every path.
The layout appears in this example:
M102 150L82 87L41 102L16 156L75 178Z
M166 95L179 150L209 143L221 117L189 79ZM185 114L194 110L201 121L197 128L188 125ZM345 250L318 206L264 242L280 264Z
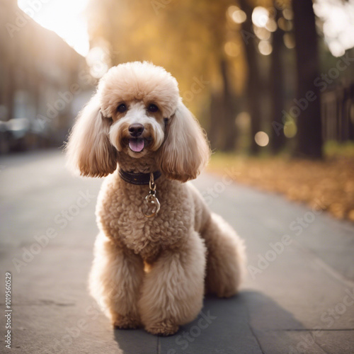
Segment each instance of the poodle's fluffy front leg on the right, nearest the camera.
M202 308L205 245L194 231L182 242L179 248L163 251L145 276L139 312L150 333L173 334Z

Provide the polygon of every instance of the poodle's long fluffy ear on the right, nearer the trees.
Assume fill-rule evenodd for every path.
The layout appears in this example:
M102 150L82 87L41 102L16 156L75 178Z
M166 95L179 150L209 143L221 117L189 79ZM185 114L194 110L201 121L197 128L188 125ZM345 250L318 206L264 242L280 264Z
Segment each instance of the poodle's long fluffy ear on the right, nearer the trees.
M209 158L206 134L180 99L160 148L161 171L168 178L186 182L198 176Z

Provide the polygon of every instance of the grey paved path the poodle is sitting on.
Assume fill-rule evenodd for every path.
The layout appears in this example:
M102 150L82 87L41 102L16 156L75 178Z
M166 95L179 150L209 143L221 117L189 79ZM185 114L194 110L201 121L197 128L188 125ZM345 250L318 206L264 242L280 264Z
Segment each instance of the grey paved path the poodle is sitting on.
M353 224L231 183L228 172L195 185L246 240L247 278L239 296L207 297L198 319L161 338L113 330L87 292L101 181L71 176L56 151L1 157L0 303L8 314L10 272L11 353L353 354Z

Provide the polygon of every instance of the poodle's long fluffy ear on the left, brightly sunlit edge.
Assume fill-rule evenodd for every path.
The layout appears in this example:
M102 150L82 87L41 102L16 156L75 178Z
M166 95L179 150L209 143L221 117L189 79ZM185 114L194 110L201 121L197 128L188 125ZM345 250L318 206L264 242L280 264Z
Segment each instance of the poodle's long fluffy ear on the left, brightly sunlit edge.
M117 151L108 137L110 120L103 117L97 96L81 110L67 143L67 166L81 176L103 177L117 168Z

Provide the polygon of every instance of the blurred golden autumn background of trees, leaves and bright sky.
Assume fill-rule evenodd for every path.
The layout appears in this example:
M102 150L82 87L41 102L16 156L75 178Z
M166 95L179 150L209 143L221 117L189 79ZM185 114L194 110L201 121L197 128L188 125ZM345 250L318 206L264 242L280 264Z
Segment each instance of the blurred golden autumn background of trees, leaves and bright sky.
M149 60L207 130L210 169L354 220L353 0L1 0L0 19L2 154L61 146L109 67Z

